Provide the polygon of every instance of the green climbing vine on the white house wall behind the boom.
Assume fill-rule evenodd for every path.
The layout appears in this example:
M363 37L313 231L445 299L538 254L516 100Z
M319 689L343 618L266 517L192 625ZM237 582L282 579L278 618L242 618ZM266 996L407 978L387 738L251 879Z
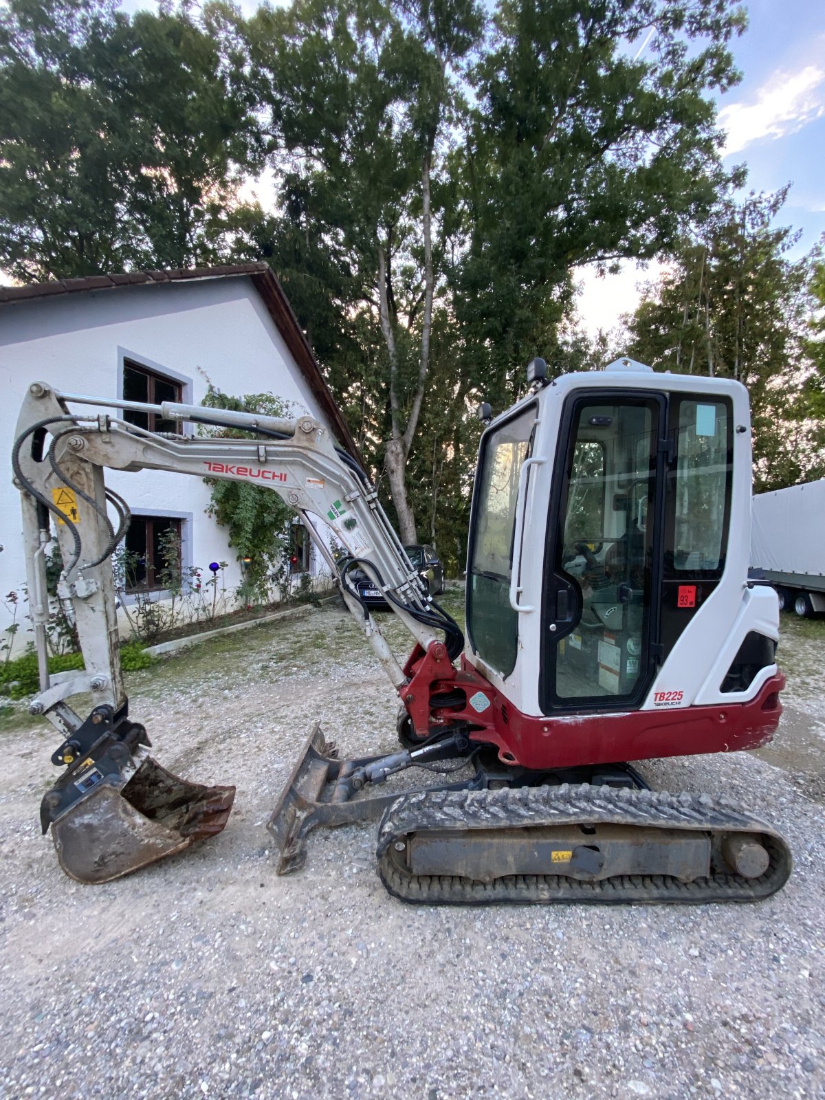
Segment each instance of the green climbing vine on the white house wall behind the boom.
M273 394L248 394L230 397L209 384L201 402L208 408L233 409L283 417L286 406ZM220 428L213 436L227 439L255 439L254 432ZM293 512L272 490L249 482L204 479L211 486L209 515L229 530L229 544L234 547L243 566L243 583L239 592L248 605L267 603L273 580L284 568L288 526Z

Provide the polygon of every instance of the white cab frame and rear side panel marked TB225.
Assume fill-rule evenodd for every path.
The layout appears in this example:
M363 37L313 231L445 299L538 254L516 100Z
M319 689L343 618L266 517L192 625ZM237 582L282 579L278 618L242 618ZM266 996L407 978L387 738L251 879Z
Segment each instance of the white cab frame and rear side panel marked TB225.
M730 537L724 572L713 594L697 609L668 656L651 684L641 710L656 707L657 692L682 692L678 704L741 702L754 697L765 680L776 673L770 666L743 694L721 693L719 686L745 636L758 630L770 638L779 637L779 606L770 588L748 588L747 575L750 549L751 448L750 410L746 388L737 382L693 375L656 374L646 370L628 372L592 372L566 374L537 394L514 406L491 429L530 402L538 402L538 422L531 454L546 458L534 465L525 496L526 519L520 547L519 601L534 612L518 616L518 656L513 672L503 679L496 670L480 660L468 645L466 657L522 713L542 716L539 704L539 653L542 631L542 583L546 539L553 466L557 457L562 408L575 392L588 389L625 389L628 385L641 393L678 392L688 395L725 396L733 402L734 472L730 509ZM609 522L609 520L608 520ZM517 524L518 528L518 524ZM514 560L518 559L518 548ZM470 578L469 578L470 583ZM620 707L617 707L620 708ZM585 710L587 710L585 707Z

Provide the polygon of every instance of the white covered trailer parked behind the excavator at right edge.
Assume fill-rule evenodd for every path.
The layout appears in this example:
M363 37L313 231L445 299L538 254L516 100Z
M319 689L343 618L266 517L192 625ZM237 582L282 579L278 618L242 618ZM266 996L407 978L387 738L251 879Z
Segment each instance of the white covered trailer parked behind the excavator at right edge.
M825 614L825 477L754 497L750 564L803 618Z

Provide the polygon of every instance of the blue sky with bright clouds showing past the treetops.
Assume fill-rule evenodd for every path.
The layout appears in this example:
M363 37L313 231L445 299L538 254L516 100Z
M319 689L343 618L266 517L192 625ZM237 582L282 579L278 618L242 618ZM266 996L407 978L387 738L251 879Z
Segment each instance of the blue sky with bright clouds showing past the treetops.
M245 14L257 0L238 0ZM277 0L274 0L277 3ZM123 0L127 11L152 7L151 0ZM727 133L724 163L747 164L745 193L791 190L781 224L802 230L792 255L809 252L825 233L825 0L750 0L748 30L732 44L741 82L718 97L719 125ZM264 178L255 193L262 204L272 194ZM591 336L619 323L639 301L639 286L654 279L661 265L625 264L604 278L579 272L578 299Z

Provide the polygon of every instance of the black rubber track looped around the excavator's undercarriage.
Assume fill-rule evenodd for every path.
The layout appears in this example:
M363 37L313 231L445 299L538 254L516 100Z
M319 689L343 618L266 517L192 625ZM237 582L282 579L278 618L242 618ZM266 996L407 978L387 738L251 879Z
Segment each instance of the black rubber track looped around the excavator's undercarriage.
M480 882L461 876L414 876L398 867L392 845L427 829L526 828L571 824L640 825L686 831L758 834L770 856L758 879L735 873L682 882L663 875L614 876L595 882L563 875L524 875ZM378 876L391 894L419 904L700 904L760 901L781 890L793 867L782 837L744 807L707 794L670 794L609 787L538 787L496 791L436 791L403 795L378 826Z

